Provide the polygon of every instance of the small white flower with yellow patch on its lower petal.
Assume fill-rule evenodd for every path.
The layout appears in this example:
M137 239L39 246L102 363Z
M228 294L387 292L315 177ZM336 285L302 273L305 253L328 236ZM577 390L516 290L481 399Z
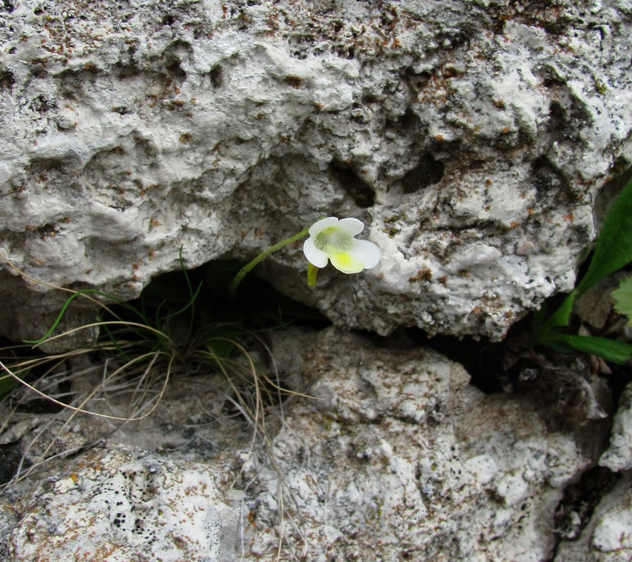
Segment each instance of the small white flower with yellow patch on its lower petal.
M356 240L364 230L357 218L330 216L310 228L310 238L303 244L305 258L316 267L325 267L327 260L343 273L359 273L375 267L381 258L379 248L369 240Z

